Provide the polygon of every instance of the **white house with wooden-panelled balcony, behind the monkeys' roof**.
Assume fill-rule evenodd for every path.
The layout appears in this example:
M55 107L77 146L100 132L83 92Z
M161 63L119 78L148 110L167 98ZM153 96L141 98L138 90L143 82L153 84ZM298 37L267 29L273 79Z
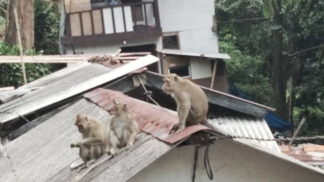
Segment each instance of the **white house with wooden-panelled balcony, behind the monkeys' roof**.
M150 52L161 62L149 71L177 73L228 93L223 60L230 57L218 50L214 0L63 2L62 53Z

